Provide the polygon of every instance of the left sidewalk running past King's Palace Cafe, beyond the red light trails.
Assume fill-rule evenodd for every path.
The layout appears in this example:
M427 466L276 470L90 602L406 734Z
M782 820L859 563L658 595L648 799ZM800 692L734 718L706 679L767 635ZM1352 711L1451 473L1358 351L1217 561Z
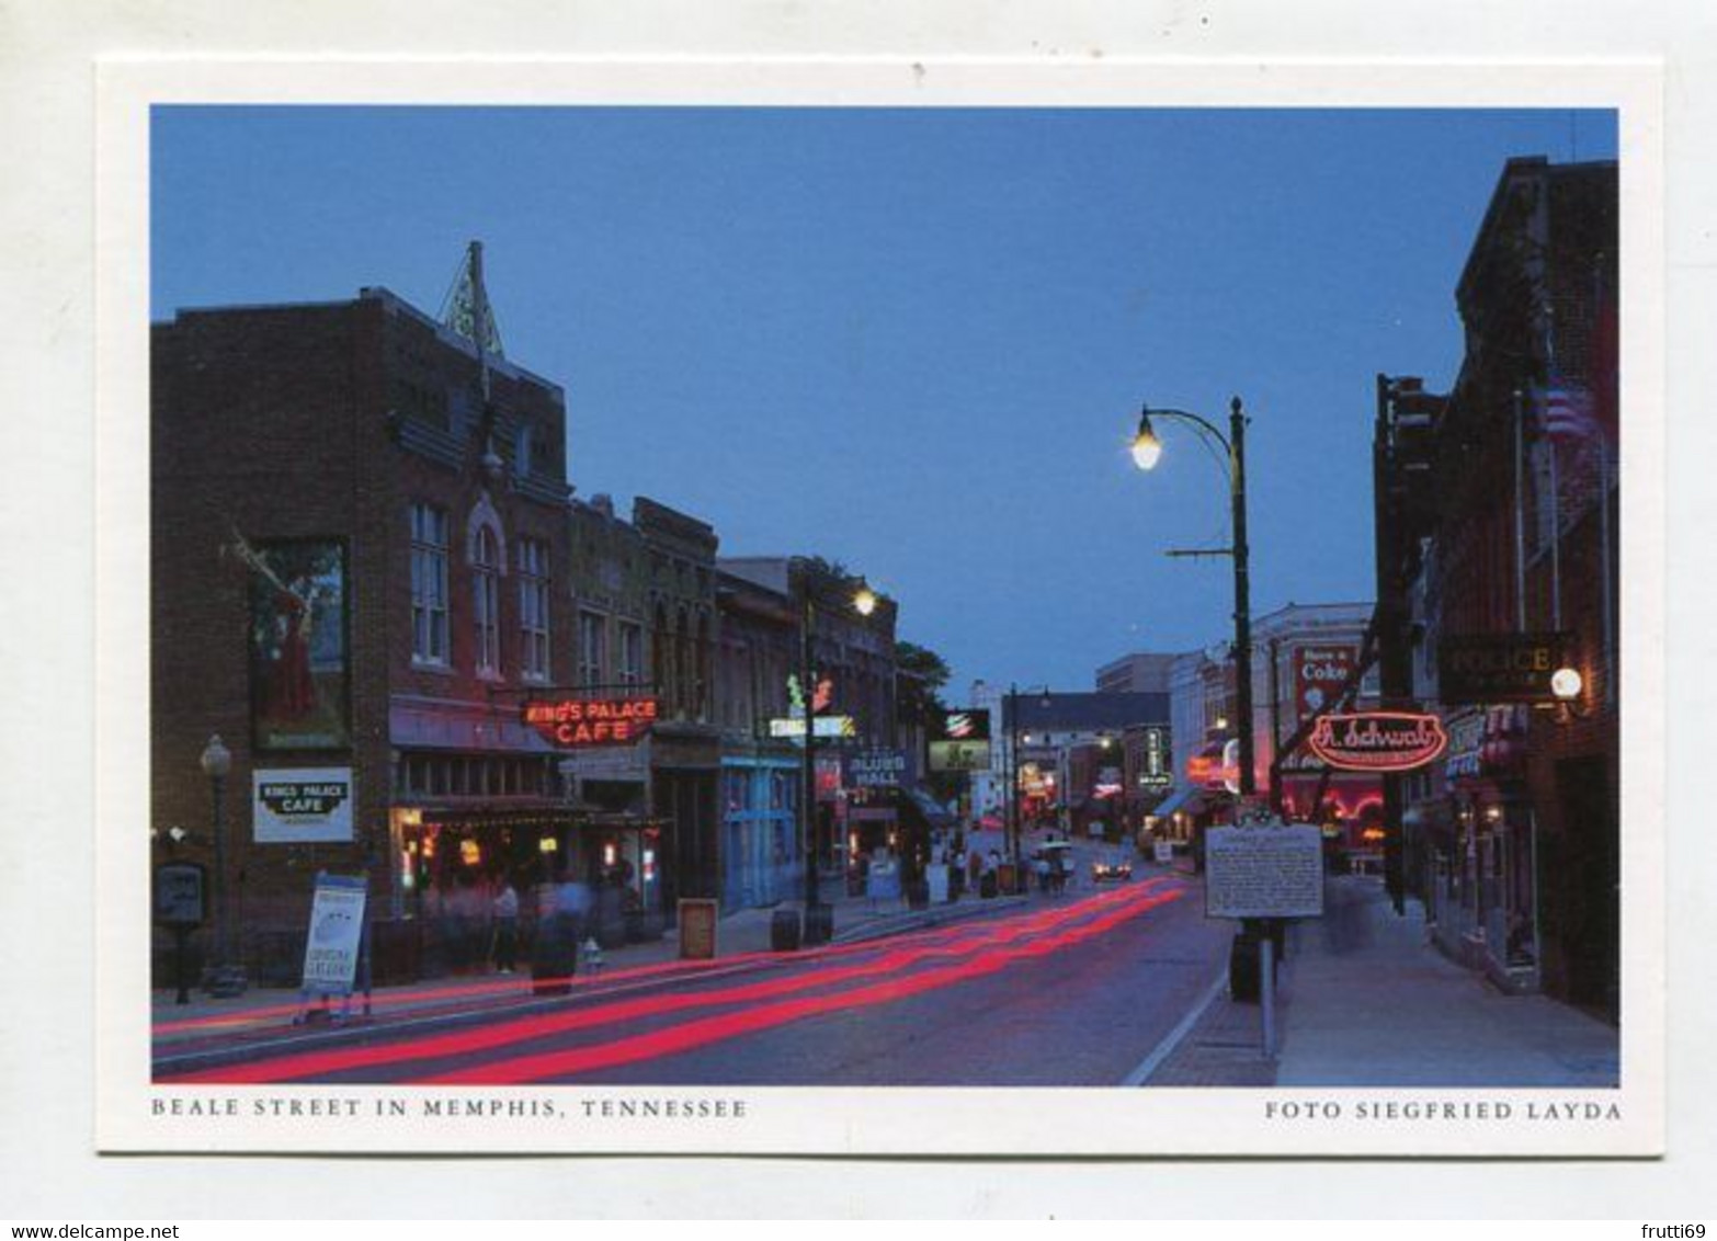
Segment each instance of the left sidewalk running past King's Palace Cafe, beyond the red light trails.
M1018 910L1028 899L1023 896L999 896L980 899L963 896L951 905L936 905L929 910L908 910L905 901L872 903L864 896L846 896L845 893L831 901L834 906L834 944L852 944L883 935L901 934L919 927L932 927L953 920L972 918ZM797 910L797 903L785 903L780 908ZM716 925L716 960L707 965L716 966L733 958L747 958L771 951L769 923L773 908L737 910L721 918ZM792 954L785 954L792 956ZM529 961L524 960L519 973L501 975L493 972L452 975L414 982L402 987L376 987L371 1001L371 1018L362 1020L362 996L354 996L350 1013L352 1025L374 1028L383 1023L398 1023L414 1018L453 1016L479 1009L513 1008L539 999L531 987ZM642 978L666 973L680 965L678 930L670 929L661 939L603 953L603 966L598 973L577 975L579 985L598 980ZM685 963L695 968L697 963ZM252 989L234 999L209 999L201 992L191 992L189 1004L175 1004L172 989L155 990L151 996L151 1025L156 1050L185 1047L211 1038L237 1037L247 1033L278 1033L282 1026L290 1026L299 1013L299 992L294 989ZM318 1021L318 1028L326 1030L328 1023Z

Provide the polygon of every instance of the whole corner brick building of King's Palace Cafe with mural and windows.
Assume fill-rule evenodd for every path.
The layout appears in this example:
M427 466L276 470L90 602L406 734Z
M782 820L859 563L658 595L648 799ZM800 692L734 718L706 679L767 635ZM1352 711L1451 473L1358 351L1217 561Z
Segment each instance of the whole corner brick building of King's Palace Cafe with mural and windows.
M457 927L572 831L519 719L573 651L561 390L366 288L156 324L151 419L158 838L213 862L220 735L252 975L294 977L318 870L367 877L381 977L457 966ZM306 814L300 784L343 795ZM431 910L455 930L426 939Z

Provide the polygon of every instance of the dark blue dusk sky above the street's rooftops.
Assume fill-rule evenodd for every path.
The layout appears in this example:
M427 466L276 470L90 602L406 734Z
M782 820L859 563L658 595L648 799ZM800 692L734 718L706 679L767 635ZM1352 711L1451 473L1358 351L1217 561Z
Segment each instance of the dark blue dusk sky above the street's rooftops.
M1612 113L161 108L153 314L441 306L486 245L507 354L567 388L570 475L817 553L972 676L1089 688L1229 632L1224 479L1140 400L1253 412L1253 611L1368 599L1379 371L1446 386L1514 154ZM1171 433L1173 436L1173 433Z

